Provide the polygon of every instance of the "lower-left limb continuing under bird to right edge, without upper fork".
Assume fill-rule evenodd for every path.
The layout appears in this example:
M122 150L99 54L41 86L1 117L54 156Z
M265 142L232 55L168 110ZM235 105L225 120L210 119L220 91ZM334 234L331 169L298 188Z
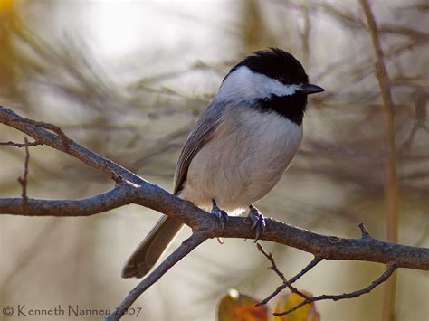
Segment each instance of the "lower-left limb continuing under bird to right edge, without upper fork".
M193 231L205 231L210 238L253 239L254 231L244 217L230 217L224 232L214 215L180 200L157 185L118 184L110 192L83 200L36 200L29 198L22 206L21 198L0 198L0 214L24 216L90 216L120 206L137 203L162 212L185 223ZM294 227L273 219L266 220L264 241L288 245L326 260L366 260L398 268L429 270L429 249L379 241L374 238L345 239L327 236Z

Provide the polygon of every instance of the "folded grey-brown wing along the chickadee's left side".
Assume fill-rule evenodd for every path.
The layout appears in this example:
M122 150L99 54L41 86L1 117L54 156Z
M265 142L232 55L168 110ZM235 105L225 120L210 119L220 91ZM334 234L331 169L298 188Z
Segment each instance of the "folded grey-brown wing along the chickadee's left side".
M183 189L187 169L192 159L213 138L223 114L224 106L212 102L198 119L194 130L186 138L182 153L180 153L177 161L174 194L178 194Z

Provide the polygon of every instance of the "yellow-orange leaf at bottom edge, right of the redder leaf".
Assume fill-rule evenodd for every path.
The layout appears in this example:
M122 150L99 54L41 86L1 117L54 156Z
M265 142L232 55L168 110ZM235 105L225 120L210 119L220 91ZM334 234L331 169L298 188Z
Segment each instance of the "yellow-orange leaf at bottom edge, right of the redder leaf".
M308 297L312 297L311 293L307 291L301 291ZM289 310L292 307L295 307L304 299L298 294L290 293L283 295L277 301L277 304L274 309L274 313L281 313L286 310ZM310 303L303 307L300 307L298 310L293 311L287 316L275 316L274 321L319 321L320 315L316 311L316 306L314 303Z

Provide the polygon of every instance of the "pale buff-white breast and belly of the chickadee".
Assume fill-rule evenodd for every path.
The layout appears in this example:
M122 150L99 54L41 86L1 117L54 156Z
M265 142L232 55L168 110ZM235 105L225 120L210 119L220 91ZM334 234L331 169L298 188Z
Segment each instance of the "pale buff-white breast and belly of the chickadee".
M301 138L301 126L274 112L236 107L191 161L180 197L201 207L215 200L226 212L243 212L277 184Z

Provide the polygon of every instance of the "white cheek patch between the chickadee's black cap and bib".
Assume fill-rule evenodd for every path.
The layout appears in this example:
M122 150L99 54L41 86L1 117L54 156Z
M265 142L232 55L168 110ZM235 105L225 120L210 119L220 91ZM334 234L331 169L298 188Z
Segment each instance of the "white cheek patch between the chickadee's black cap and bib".
M246 66L241 66L224 80L216 94L216 99L253 101L266 99L272 95L291 96L299 90L299 85L285 85L279 80L273 80L261 73L251 71Z

